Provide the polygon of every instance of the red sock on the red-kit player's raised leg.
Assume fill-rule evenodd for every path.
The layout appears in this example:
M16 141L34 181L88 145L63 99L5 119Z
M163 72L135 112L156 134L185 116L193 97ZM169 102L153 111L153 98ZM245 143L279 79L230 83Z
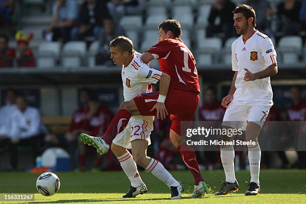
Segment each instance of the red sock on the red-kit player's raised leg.
M125 109L119 109L117 114L115 114L109 123L106 132L102 136L102 139L104 139L104 141L110 145L112 139L115 138L115 136L125 128L130 116L131 114L129 111Z

